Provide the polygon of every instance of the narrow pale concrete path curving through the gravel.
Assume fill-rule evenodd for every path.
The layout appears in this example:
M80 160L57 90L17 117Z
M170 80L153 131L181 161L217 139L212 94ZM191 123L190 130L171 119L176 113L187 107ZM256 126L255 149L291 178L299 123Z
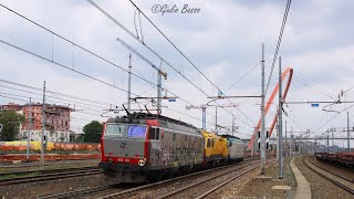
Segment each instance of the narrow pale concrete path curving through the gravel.
M294 199L311 199L311 187L306 178L301 174L294 164L294 159L290 161L290 167L296 179L296 192Z

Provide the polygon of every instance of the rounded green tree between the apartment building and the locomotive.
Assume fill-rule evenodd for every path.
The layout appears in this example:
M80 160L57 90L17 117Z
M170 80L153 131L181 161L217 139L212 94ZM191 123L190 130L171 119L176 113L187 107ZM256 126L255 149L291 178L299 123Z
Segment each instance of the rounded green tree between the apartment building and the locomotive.
M100 143L103 130L103 124L98 121L93 121L86 124L83 128L85 143Z

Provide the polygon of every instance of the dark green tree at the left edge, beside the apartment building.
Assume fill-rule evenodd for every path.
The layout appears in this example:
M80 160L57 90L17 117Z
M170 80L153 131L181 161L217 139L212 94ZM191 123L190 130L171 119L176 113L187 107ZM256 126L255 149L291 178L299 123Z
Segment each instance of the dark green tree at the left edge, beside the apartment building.
M24 123L23 115L12 109L0 112L0 124L2 124L1 140L12 142L18 138L20 124Z

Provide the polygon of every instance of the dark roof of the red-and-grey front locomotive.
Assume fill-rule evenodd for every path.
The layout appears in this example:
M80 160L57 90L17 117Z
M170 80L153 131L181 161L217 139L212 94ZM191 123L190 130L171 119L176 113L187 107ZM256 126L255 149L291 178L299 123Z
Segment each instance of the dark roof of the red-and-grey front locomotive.
M158 121L163 121L163 122L166 122L166 123L174 123L174 124L178 124L178 125L183 125L183 126L187 126L187 127L190 127L190 128L194 128L194 129L198 129L197 127L195 127L194 125L191 124L188 124L188 123L185 123L185 122L181 122L181 121L177 121L177 119L174 119L174 118L170 118L170 117L166 117L166 116L163 116L163 115L158 115L158 114L150 114L150 113L132 113L132 114L128 114L128 115L125 115L125 116L122 116L122 117L113 117L113 118L110 118L107 121L107 123L139 123L138 121L139 119L158 119Z

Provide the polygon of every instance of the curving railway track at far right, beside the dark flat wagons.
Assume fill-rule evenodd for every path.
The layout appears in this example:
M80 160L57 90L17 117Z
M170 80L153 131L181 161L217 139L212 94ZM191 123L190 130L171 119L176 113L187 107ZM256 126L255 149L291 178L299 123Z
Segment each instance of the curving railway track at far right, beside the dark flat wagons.
M354 182L353 179L348 179L345 176L341 176L336 172L331 170L324 169L323 167L317 166L316 164L312 163L309 157L302 159L302 163L313 172L317 174L319 176L323 177L324 179L331 181L335 186L346 190L347 192L354 195Z

